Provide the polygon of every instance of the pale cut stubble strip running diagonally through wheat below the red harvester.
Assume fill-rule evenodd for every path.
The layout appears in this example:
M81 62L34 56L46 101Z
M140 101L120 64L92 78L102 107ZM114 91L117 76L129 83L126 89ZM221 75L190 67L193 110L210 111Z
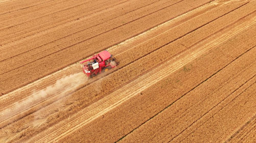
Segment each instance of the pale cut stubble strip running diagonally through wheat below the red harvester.
M247 22L243 22L241 25L233 27L232 29L228 28L229 31L228 30L220 31L215 36L212 36L207 40L201 42L200 44L194 46L193 48L190 48L185 52L175 56L173 59L159 66L159 68L154 69L151 72L148 72L147 74L125 85L123 88L116 90L110 95L103 97L99 101L79 111L72 117L72 120L70 120L69 118L68 121L63 121L58 125L54 125L50 127L54 131L51 132L48 129L44 131L42 134L46 135L45 133L51 133L53 135L58 135L60 137L67 135L68 133L71 132L70 130L74 131L79 126L82 126L88 123L93 118L98 117L104 112L107 112L107 110L113 108L114 106L121 104L121 102L132 97L132 95L156 83L158 80L163 79L165 76L169 75L170 73L179 69L183 65L189 63L190 61L194 60L195 58L202 55L206 51L210 50L212 47L220 44L224 40L242 31L244 28L247 27L246 26L247 24L248 24ZM244 28L241 28L241 27L244 27ZM214 40L211 40L211 39L214 39ZM66 126L65 124L68 124L68 126ZM61 126L61 128L58 128L58 130L56 130L57 126ZM65 132L63 133L64 130ZM40 136L40 134L37 135L37 137L35 137L34 139L37 140L38 136ZM45 139L42 136L39 138ZM35 141L35 140L31 140L31 141ZM56 140L58 139L53 138L53 140L47 140L47 141L56 141Z

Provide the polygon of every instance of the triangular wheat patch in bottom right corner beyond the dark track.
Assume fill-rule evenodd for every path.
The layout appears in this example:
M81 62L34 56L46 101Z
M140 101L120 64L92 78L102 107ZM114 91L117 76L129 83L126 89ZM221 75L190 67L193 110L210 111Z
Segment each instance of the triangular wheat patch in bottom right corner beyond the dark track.
M228 141L230 142L255 142L256 135L256 115L248 120L235 135L231 136Z

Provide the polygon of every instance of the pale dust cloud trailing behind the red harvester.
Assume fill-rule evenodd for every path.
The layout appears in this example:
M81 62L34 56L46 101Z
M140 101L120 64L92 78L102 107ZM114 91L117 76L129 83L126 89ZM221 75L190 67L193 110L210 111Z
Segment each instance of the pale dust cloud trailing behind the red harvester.
M54 97L54 100L57 100L61 97L65 97L77 90L79 86L86 83L87 80L88 78L83 73L64 76L58 79L54 84L39 91L34 91L31 95L21 99L21 101L13 103L8 108L1 111L1 119L8 119L13 116L13 113L25 111L26 109L41 103L46 98Z

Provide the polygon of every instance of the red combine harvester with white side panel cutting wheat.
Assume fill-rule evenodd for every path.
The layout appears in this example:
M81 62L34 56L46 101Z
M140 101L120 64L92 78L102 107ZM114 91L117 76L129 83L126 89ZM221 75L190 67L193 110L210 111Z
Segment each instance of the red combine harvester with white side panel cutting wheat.
M96 55L93 55L92 58L80 62L83 65L83 73L87 77L93 78L98 73L106 72L111 68L116 67L119 62L114 62L115 58L107 51L104 50ZM87 62L86 64L84 64Z

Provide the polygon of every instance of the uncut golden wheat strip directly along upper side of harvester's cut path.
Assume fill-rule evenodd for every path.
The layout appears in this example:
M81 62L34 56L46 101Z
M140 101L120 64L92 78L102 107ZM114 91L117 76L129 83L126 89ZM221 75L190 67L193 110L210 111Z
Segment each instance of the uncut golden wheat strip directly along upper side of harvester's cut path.
M1 81L3 81L1 84L2 89L0 91L3 93L8 93L14 89L22 87L23 85L33 82L41 77L54 73L57 70L76 63L96 52L120 43L130 37L133 37L134 35L137 35L154 27L155 25L161 24L169 19L172 19L178 15L181 15L191 9L194 9L206 3L206 1L203 0L197 1L196 3L190 3L190 1L193 0L182 1L181 3L157 11L152 15L148 15L136 21L125 24L119 28L116 28L110 32L104 33L96 37L95 39L81 42L80 44L74 45L70 48L51 54L33 63L3 74L0 76ZM187 7L185 9L178 10L179 7L184 6ZM172 17L170 18L170 16ZM123 33L122 31L126 32ZM99 39L102 39L101 42L98 41ZM88 45L87 42L89 41L94 45ZM95 49L99 51L95 51ZM59 63L59 61L61 61L61 64ZM9 76L12 76L12 78L10 78Z

